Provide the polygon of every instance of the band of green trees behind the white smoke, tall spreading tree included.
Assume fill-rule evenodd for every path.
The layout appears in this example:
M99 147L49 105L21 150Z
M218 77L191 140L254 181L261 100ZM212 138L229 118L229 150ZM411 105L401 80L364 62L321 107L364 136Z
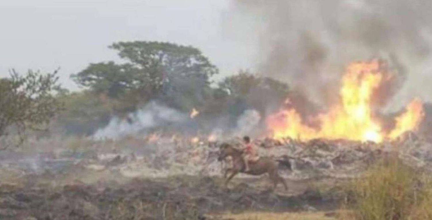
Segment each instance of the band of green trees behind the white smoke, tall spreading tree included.
M90 64L71 76L86 88L82 95L71 94L74 101L68 102L68 111L61 118L62 123L74 124L72 130L82 128L89 134L95 126L105 124L106 118L135 112L150 99L184 112L197 108L214 117L229 114L235 118L248 107L265 114L269 105L279 106L289 92L286 83L246 71L212 87L210 77L218 69L191 46L132 41L109 48L118 51L125 62ZM67 126L67 131L71 128Z

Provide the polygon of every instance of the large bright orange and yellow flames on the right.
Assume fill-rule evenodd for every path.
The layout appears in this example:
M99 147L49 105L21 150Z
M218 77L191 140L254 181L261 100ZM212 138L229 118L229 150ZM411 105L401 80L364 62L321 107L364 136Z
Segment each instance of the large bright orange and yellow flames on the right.
M319 124L306 124L295 108L285 108L267 119L273 137L290 137L299 140L314 138L348 139L381 142L395 139L400 134L414 130L423 118L422 103L413 100L402 115L395 118L395 127L384 131L380 120L374 115L372 98L390 73L381 70L378 60L349 64L342 78L339 91L340 103L332 106L327 113L312 118ZM289 100L286 104L291 103Z

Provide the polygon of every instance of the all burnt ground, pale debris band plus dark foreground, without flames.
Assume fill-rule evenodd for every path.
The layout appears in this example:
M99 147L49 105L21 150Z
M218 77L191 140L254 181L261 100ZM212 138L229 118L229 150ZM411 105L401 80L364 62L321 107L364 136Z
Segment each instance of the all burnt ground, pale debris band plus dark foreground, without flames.
M292 165L292 171L280 167L290 183L289 191L273 193L258 184L262 179L247 175L238 175L232 189L226 189L219 179L223 171L217 161L219 144L206 136L196 138L159 135L95 140L38 156L0 152L0 193L4 195L0 217L160 219L165 215L166 219L195 219L227 210L321 210L336 207L343 194L333 188L314 192L306 187L308 181L356 178L389 155L432 171L432 144L413 133L392 143L265 138L254 140L260 156ZM237 144L241 138L225 141ZM225 167L229 166L227 161Z

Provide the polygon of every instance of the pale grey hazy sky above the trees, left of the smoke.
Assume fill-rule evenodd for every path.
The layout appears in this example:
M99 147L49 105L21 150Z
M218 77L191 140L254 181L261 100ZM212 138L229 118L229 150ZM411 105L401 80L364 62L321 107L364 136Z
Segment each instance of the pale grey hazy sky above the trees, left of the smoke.
M15 68L51 72L76 89L71 73L117 59L114 41L194 45L222 75L249 68L252 47L224 34L228 0L2 0L0 77ZM225 25L226 26L226 25Z

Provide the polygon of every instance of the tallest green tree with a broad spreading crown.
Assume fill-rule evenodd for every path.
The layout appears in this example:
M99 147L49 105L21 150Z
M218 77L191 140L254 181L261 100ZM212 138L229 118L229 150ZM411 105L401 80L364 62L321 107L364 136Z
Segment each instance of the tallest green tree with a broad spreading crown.
M202 92L210 86L210 77L218 73L208 58L191 46L133 41L114 43L109 48L117 50L127 62L90 64L72 78L80 86L113 99L127 97L133 102L147 102L157 97L178 105L179 97L174 96L185 94L201 100Z

